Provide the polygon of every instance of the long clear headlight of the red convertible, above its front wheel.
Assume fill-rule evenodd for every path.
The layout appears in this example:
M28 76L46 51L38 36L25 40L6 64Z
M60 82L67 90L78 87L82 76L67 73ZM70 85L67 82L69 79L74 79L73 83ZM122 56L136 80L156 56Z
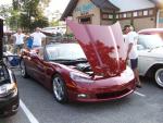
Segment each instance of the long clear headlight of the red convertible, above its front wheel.
M71 72L71 78L75 82L80 83L93 83L93 81L90 79L90 77L75 72Z

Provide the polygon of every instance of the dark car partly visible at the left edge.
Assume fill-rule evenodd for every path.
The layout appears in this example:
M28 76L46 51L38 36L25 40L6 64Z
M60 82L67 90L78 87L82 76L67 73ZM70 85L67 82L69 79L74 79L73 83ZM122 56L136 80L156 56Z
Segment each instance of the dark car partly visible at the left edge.
M0 62L0 116L15 114L20 104L17 83L13 72Z

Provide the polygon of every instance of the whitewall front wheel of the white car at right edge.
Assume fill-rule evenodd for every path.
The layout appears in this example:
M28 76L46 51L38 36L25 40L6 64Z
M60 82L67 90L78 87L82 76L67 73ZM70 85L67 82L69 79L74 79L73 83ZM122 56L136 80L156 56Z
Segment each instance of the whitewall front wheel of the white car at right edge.
M155 82L160 87L163 87L163 69L158 69L155 72Z

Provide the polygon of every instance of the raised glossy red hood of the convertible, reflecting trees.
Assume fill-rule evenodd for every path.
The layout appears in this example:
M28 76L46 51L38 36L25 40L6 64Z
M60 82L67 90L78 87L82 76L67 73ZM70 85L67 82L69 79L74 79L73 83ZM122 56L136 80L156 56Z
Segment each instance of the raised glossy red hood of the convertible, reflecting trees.
M120 23L112 26L83 25L66 21L82 46L95 74L115 76L126 69L126 49Z

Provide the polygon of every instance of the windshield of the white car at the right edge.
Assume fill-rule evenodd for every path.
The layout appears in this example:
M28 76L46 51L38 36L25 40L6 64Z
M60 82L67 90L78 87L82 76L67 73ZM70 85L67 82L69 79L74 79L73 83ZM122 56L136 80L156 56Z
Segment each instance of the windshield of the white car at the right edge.
M147 49L163 47L163 40L159 35L139 35L138 45Z

